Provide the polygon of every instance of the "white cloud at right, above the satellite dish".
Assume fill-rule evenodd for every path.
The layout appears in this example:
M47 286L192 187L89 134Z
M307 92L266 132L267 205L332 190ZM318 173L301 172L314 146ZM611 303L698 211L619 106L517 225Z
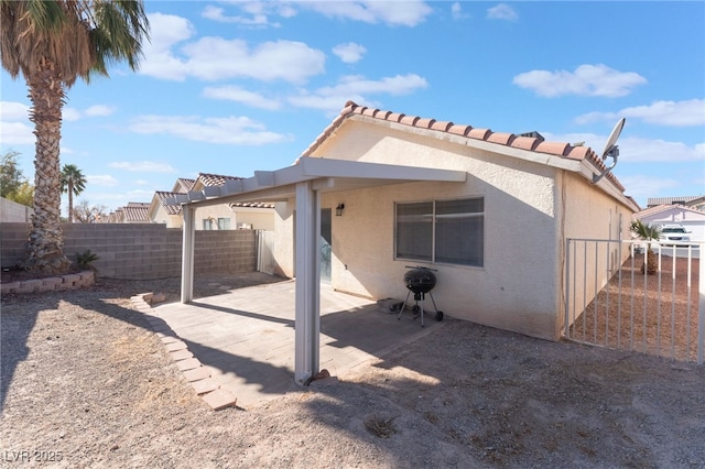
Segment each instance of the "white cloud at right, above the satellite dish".
M531 70L517 75L512 83L549 98L564 95L615 98L629 95L647 79L633 72L618 72L597 64L581 65L575 72Z

